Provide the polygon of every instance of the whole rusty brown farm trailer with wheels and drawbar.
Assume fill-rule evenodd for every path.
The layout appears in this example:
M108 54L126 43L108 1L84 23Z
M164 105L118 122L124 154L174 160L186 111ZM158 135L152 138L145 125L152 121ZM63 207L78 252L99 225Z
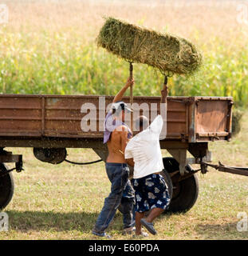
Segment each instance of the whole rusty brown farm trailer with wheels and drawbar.
M112 102L104 97L104 104ZM133 102L148 106L159 97L134 97ZM96 106L96 131L84 132L81 111L84 103ZM128 102L128 97L124 97ZM103 144L104 114L99 114L100 96L91 95L30 95L0 94L0 209L10 202L14 193L11 170L22 170L22 155L12 154L5 147L32 147L35 157L43 162L58 164L66 161L66 148L92 148L105 161L108 154ZM246 169L215 166L211 162L208 142L229 141L231 137L232 98L167 97L167 136L160 141L171 158L163 158L164 170L171 193L169 210L189 210L198 197L199 183L195 173L207 172L207 166L234 174L248 175ZM149 108L151 121L152 108ZM187 158L189 151L193 158ZM8 162L15 162L9 169ZM191 164L199 164L194 170ZM132 178L132 177L130 177Z

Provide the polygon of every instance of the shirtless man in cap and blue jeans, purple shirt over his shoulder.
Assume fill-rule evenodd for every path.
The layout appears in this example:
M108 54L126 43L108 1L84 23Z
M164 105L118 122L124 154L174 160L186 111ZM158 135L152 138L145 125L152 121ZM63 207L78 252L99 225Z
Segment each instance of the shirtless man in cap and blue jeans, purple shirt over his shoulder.
M133 83L133 78L128 78L128 82L113 99L112 109L105 119L104 143L107 143L108 146L106 172L112 186L93 228L93 234L101 237L110 238L105 230L114 218L120 204L123 209L124 231L130 233L135 226L133 214L134 190L128 179L129 168L124 158L125 147L129 139L132 138L131 130L124 123L124 114L126 111L132 110L128 109L128 106L121 101L125 91Z

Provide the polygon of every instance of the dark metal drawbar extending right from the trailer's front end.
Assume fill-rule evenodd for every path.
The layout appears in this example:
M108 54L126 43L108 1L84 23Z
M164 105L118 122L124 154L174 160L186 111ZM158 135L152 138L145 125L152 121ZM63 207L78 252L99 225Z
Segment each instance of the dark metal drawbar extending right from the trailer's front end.
M201 169L203 168L202 169L203 173L205 171L207 172L207 166L210 166L212 168L215 168L215 170L222 171L225 173L248 176L248 168L247 167L224 166L224 165L222 165L221 162L218 162L218 165L213 165L213 164L210 164L207 162L201 162Z

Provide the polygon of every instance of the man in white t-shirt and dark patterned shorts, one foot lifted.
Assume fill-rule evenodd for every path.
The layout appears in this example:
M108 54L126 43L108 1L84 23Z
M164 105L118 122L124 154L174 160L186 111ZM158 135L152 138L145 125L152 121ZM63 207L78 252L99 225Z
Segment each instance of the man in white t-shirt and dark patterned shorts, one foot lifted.
M136 235L144 235L141 225L152 234L156 234L153 221L162 214L170 203L167 184L162 175L163 158L159 144L159 134L163 128L163 118L158 115L148 126L148 118L140 116L136 120L136 129L140 125L139 134L136 134L125 148L125 158L130 164L134 163L132 185L136 198ZM132 159L131 159L132 158ZM151 210L147 218L144 213Z

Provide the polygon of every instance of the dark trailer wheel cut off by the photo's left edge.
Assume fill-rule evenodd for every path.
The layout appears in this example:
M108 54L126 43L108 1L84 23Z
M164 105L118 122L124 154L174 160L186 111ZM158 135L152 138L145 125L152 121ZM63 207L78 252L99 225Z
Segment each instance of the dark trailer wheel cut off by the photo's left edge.
M8 170L8 167L0 162L0 174ZM0 177L0 210L5 208L11 201L14 194L14 178L12 174Z

